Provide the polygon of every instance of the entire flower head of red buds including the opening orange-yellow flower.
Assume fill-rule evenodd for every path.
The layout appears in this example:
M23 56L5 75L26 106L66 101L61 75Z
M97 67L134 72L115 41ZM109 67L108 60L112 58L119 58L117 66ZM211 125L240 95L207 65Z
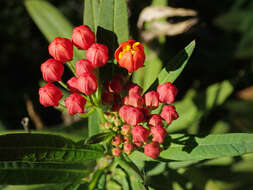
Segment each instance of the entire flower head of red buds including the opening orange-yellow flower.
M85 50L87 59L75 63L74 76L65 84L61 79L64 63L73 60L74 46ZM144 47L140 42L128 40L116 49L114 57L129 75L117 73L111 80L105 81L101 87L101 97L96 99L90 95L102 85L98 84L94 73L98 67L106 65L109 50L107 46L95 42L95 34L90 28L86 25L75 27L72 40L57 37L48 46L48 51L52 58L41 65L43 79L47 82L39 89L43 106L59 105L63 94L54 84L58 82L70 92L64 100L70 115L84 113L86 101L91 107L102 109L104 105L108 108L104 113L106 122L101 124L101 128L115 134L111 141L112 155L119 156L122 152L131 154L134 149L144 149L144 153L151 158L159 156L167 136L164 127L178 118L172 105L178 90L167 82L143 95L140 86L128 81L131 73L142 67L145 61ZM100 93L96 93L96 96L100 96ZM161 113L156 110L159 106Z

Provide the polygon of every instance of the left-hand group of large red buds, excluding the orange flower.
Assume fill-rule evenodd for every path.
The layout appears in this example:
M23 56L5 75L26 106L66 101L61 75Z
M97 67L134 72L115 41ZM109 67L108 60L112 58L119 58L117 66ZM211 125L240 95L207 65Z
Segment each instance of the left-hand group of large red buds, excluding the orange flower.
M72 41L67 38L55 38L48 46L52 58L41 64L43 79L48 82L39 89L40 103L43 106L58 106L63 95L53 82L61 82L64 63L73 59L73 46L86 50L87 59L75 63L75 76L67 81L71 94L64 103L71 115L84 113L85 96L96 92L98 86L94 70L104 66L108 60L107 46L95 43L95 34L86 25L74 28Z

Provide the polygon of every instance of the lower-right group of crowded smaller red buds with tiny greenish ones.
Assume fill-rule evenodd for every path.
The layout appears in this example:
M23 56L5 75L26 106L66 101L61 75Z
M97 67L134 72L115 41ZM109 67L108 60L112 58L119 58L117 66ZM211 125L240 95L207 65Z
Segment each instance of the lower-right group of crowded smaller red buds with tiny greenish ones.
M121 80L121 83L117 80L118 83L115 83L114 79L115 77L105 85L102 96L104 104L113 103L112 112L106 115L108 122L102 125L103 128L117 133L112 140L112 154L130 154L134 148L143 147L147 156L157 158L162 150L161 144L167 136L164 121L170 124L178 118L175 107L171 105L175 101L177 88L167 82L159 85L156 91L149 91L141 96L142 88L137 84L128 83L121 86L124 80ZM120 98L122 89L127 89L128 95ZM118 97L118 101L112 101L115 97ZM163 105L161 113L152 114L152 110L158 108L159 103Z

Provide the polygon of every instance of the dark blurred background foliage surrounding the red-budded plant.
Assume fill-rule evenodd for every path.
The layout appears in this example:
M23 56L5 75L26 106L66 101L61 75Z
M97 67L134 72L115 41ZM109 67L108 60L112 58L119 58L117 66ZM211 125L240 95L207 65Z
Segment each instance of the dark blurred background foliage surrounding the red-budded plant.
M82 23L83 0L48 1L73 26ZM42 78L40 64L48 59L46 38L29 17L23 1L2 0L0 5L0 131L22 129L21 120L31 117L32 110L39 118L37 122L46 128L58 126L51 130L69 133L65 124L71 124L75 118L68 121L60 112L43 108L38 101ZM176 35L161 34L146 41L146 67L134 76L136 82L145 86L143 78L150 78L190 41L196 40L193 56L174 83L179 89L176 108L180 118L168 131L191 134L253 132L253 2L128 0L128 5L130 36L140 41L146 41L143 31L152 26L152 21L147 21L142 28L137 27L141 12L148 6L185 8L197 13L194 16L197 22L186 31ZM160 21L173 25L191 18L175 16ZM87 130L80 126L86 126L87 122L78 122L74 123L78 126L74 132L85 136L81 131L87 134ZM30 122L31 128L37 125L36 121ZM60 130L62 128L64 130ZM252 155L246 155L177 166L149 163L142 171L154 189L250 190L252 163ZM190 167L184 168L187 165Z

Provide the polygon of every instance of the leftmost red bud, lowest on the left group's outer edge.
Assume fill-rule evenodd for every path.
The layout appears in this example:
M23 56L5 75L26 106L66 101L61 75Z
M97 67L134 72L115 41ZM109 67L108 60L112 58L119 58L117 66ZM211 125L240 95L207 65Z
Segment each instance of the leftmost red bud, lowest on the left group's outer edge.
M54 84L48 83L39 89L40 103L45 106L58 106L62 92Z

